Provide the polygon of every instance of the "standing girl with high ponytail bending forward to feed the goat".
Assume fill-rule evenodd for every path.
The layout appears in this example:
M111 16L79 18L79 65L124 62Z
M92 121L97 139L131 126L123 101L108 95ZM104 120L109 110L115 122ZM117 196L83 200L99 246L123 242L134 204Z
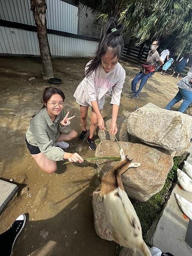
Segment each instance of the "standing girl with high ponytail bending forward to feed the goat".
M123 83L125 81L125 70L119 64L119 58L123 50L122 24L114 18L105 24L101 40L93 60L85 67L85 77L77 87L74 97L80 105L82 132L79 140L83 141L87 135L87 114L91 106L90 134L87 138L89 148L96 149L93 141L97 125L105 129L101 110L105 103L105 94L112 90L111 104L113 105L111 134L116 134L116 119L119 111L119 104Z

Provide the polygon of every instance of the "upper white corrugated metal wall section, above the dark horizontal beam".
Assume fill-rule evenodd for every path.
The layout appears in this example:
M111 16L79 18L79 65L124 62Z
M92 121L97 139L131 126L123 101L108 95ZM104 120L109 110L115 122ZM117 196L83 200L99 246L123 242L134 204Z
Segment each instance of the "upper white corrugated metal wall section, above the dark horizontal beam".
M78 8L61 0L47 0L47 28L78 33ZM35 26L30 0L0 0L0 19Z

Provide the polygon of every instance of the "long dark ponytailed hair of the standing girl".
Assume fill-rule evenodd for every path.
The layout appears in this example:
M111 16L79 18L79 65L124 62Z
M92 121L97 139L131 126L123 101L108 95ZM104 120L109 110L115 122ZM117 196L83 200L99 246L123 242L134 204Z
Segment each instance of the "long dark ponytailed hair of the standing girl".
M118 23L118 20L111 17L105 23L102 29L101 40L96 49L95 56L92 61L87 65L85 70L85 76L89 76L101 63L102 55L104 55L108 50L111 54L119 59L122 55L124 41L121 36L123 31L123 25Z

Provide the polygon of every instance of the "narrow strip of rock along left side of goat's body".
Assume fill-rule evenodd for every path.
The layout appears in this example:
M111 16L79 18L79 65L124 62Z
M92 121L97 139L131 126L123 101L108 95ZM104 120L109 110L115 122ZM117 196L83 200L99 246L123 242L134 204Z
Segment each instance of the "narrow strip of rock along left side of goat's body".
M93 192L92 204L95 230L97 235L102 239L112 241L113 239L110 236L110 233L108 233L108 230L111 231L112 227L106 219L103 199L102 201L99 201L99 194L100 192Z

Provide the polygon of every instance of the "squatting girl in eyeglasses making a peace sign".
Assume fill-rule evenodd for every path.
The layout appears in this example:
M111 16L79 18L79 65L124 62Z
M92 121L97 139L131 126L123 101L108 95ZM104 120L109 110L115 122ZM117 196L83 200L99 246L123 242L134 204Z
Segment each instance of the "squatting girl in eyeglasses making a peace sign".
M82 163L77 153L67 153L61 148L68 148L65 141L77 137L77 132L70 128L70 120L63 110L64 93L55 87L46 87L42 97L43 107L33 116L26 132L26 145L38 166L47 173L57 169L56 161L68 159Z

